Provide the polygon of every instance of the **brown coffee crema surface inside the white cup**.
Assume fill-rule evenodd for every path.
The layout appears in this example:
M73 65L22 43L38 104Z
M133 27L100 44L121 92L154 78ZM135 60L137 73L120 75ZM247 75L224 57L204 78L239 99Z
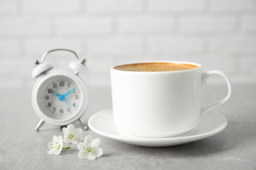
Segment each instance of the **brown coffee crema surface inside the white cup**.
M188 63L134 63L114 67L121 71L182 71L196 68L197 65Z

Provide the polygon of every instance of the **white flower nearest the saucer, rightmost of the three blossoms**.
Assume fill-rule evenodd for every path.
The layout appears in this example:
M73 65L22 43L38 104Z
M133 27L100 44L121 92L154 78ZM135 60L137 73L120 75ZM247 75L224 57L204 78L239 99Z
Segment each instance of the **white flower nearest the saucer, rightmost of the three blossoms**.
M96 157L100 157L103 151L98 146L100 145L100 139L96 138L93 140L91 136L85 137L83 143L77 144L79 150L78 157L80 159L95 160Z

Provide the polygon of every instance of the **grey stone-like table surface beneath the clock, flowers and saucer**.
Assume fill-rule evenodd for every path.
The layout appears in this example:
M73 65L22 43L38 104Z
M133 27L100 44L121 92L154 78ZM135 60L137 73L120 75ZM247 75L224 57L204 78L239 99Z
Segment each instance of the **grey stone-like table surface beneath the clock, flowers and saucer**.
M215 109L228 120L221 133L193 143L165 148L125 144L91 131L101 140L104 154L96 160L80 160L76 145L60 155L48 155L53 135L60 127L39 122L31 103L32 89L0 90L0 169L256 169L256 84L234 84L232 98ZM205 86L204 104L221 99L224 84ZM112 107L110 88L91 88L91 103L83 120ZM75 123L76 127L79 124Z

